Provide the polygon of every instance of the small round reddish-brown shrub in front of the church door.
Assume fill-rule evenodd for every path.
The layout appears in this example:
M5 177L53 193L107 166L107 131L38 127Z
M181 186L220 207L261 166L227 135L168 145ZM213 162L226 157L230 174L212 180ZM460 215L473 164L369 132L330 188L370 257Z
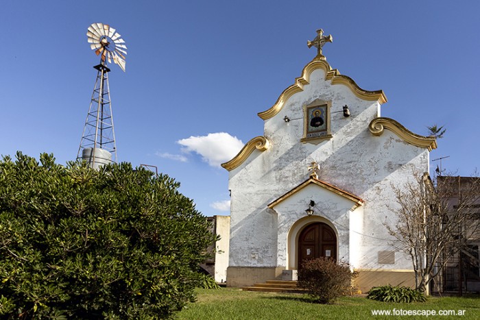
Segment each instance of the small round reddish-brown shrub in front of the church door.
M350 293L356 275L345 262L337 264L331 258L305 260L298 271L297 286L307 289L320 304L329 304L335 298Z

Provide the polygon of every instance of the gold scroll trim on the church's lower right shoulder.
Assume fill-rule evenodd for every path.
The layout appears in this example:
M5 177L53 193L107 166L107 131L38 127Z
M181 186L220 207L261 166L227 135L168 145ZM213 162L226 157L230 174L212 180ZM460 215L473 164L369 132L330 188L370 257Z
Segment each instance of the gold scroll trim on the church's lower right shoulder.
M411 145L427 148L429 151L437 149L437 140L434 136L420 136L419 134L414 134L394 119L385 117L375 118L370 121L368 129L375 136L381 136L383 130L388 129Z

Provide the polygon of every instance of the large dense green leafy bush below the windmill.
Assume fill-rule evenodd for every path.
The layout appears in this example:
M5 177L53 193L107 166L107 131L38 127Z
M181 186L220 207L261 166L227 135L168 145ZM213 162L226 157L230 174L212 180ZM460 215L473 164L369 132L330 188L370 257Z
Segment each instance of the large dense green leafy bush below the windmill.
M171 317L215 241L180 184L131 164L0 162L0 315Z

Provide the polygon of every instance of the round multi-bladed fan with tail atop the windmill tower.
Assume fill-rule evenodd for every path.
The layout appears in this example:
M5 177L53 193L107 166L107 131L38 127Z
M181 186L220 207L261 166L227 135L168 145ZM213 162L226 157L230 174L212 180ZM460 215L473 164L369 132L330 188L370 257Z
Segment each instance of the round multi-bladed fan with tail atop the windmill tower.
M127 54L127 46L120 34L110 25L103 23L92 23L88 27L88 43L92 50L95 50L97 56L101 56L101 60L118 64L125 71L125 56Z

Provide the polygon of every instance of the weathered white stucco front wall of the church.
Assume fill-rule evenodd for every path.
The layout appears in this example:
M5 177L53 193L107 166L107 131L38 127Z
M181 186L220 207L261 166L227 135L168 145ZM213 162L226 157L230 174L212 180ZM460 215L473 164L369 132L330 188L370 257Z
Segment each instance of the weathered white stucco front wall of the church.
M333 137L317 145L301 143L303 106L315 99L332 103ZM341 112L344 105L350 108L348 118ZM299 120L287 125L285 116ZM304 210L313 199L318 205L317 218L312 219L326 219L335 227L338 258L359 269L411 269L403 254L396 254L394 265L378 264L377 254L392 250L391 238L383 226L385 217L392 217L389 206L395 202L391 185L401 186L412 169L428 171L429 152L387 130L374 136L368 124L378 116L378 101L360 99L343 84L331 85L322 69L311 73L310 84L265 121L269 149L255 150L230 171L230 267L293 269L289 232L305 217ZM307 168L313 161L321 166L320 180L361 197L365 204L352 212L352 201L318 186L308 186L274 210L268 209L267 204L307 180Z

